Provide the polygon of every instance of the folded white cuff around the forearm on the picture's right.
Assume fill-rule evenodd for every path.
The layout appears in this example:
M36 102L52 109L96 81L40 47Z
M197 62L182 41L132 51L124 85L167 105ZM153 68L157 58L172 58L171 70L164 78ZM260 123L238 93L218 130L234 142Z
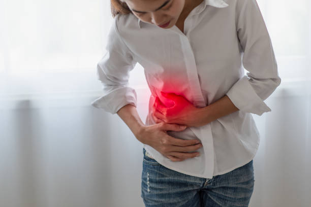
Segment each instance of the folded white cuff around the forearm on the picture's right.
M265 112L271 112L271 109L257 95L247 76L238 80L226 93L240 111L253 113L261 116Z

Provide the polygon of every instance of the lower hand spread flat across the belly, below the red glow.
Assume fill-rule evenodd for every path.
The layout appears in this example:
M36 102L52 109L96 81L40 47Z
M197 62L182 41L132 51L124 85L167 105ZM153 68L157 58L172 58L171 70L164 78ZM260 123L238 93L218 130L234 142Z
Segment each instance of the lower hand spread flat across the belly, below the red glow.
M185 128L178 124L161 122L142 127L136 134L136 138L172 161L182 161L199 155L199 152L192 151L202 147L199 140L182 140L167 134L167 131L182 131Z

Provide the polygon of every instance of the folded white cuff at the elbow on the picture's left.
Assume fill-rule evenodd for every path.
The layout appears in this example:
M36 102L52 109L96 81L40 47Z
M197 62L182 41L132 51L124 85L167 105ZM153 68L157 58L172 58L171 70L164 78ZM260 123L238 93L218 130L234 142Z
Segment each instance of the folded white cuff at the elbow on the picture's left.
M133 88L125 87L111 91L91 102L91 106L115 114L122 107L131 104L137 106L137 94Z

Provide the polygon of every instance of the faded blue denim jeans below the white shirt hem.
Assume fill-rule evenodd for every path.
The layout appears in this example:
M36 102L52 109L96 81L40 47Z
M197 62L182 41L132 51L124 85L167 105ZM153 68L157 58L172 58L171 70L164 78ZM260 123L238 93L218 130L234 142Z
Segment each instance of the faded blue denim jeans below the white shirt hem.
M206 179L169 169L145 152L143 148L141 197L146 207L248 206L255 181L253 160L226 174Z

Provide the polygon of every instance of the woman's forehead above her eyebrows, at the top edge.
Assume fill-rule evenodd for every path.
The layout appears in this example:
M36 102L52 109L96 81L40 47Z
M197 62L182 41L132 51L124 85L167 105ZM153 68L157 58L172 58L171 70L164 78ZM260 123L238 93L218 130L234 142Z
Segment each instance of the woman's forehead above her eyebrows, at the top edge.
M124 0L130 9L151 12L161 7L168 0Z

